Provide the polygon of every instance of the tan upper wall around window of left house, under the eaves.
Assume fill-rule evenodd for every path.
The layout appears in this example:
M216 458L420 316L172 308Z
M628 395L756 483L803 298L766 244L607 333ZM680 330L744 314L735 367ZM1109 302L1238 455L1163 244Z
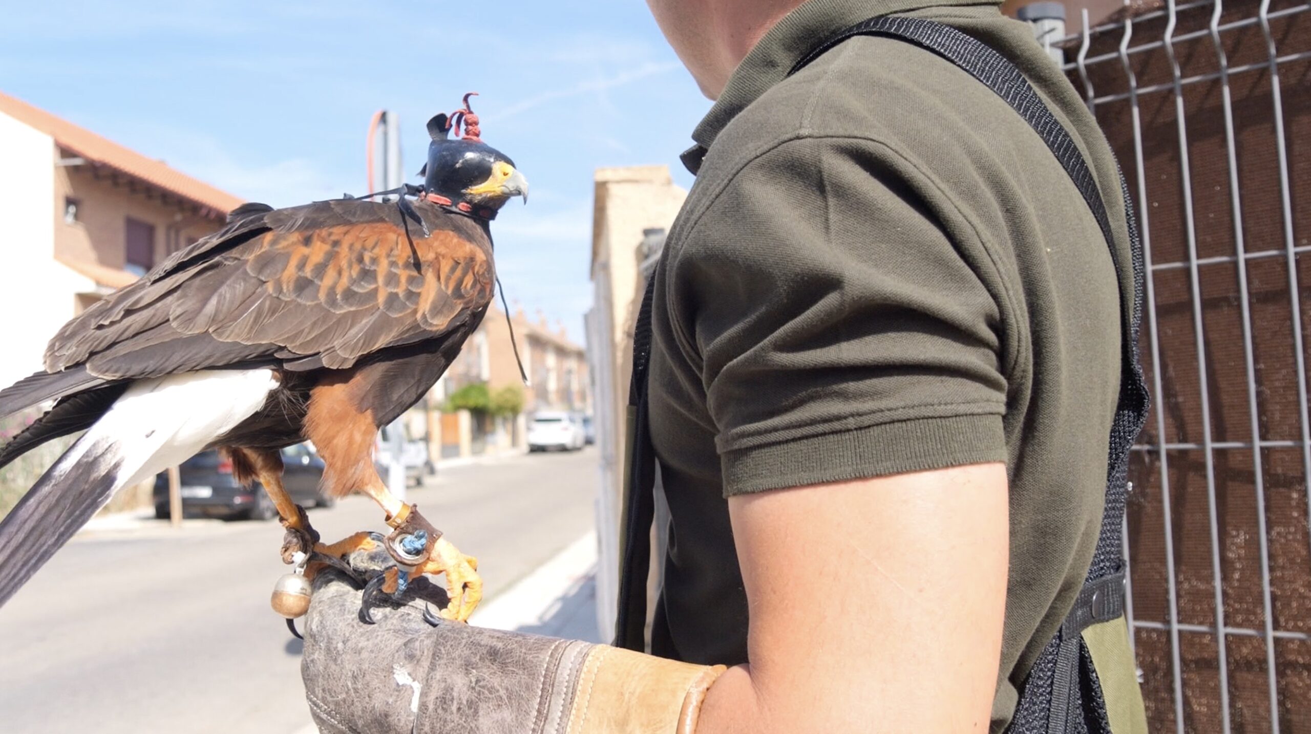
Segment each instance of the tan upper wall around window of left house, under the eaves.
M117 182L115 182L117 180ZM77 199L77 222L64 222L64 199ZM160 198L157 189L128 184L122 176L90 164L55 168L55 257L122 269L126 258L126 219L155 225L155 262L222 227L216 219L197 216L174 197Z

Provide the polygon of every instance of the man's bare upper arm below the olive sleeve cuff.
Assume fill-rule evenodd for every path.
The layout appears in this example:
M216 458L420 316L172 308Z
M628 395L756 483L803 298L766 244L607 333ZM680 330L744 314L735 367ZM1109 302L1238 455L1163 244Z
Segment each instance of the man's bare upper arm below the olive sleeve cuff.
M1007 585L1004 464L729 498L750 666L699 731L987 731Z

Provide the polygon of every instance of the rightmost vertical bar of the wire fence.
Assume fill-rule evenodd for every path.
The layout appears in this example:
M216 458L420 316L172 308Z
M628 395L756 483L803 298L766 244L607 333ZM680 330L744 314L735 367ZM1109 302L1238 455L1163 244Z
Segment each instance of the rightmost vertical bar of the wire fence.
M1293 308L1293 357L1298 368L1298 418L1302 422L1302 490L1307 499L1307 535L1311 540L1311 426L1307 426L1307 366L1302 347L1302 296L1298 294L1298 258L1293 250L1293 194L1289 187L1289 151L1283 138L1283 97L1280 55L1270 33L1270 0L1261 0L1257 18L1270 59L1270 97L1274 105L1274 149L1280 157L1280 206L1283 212L1283 252L1289 267L1289 304Z

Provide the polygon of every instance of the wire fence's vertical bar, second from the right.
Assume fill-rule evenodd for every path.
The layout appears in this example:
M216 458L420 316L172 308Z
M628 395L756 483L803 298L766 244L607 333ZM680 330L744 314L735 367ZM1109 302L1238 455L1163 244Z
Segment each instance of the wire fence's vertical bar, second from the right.
M1238 181L1238 145L1234 140L1234 100L1228 83L1228 55L1221 39L1223 0L1211 8L1211 45L1221 68L1221 107L1224 114L1224 153L1228 161L1230 216L1234 219L1234 250L1238 256L1239 308L1243 315L1243 366L1247 370L1247 412L1252 435L1252 488L1256 493L1256 524L1261 553L1261 606L1265 619L1266 687L1270 697L1270 733L1280 734L1280 683L1274 667L1274 611L1270 600L1270 543L1265 519L1265 471L1261 461L1261 417L1256 398L1256 358L1252 349L1252 308L1248 300L1247 241L1243 231L1243 195Z

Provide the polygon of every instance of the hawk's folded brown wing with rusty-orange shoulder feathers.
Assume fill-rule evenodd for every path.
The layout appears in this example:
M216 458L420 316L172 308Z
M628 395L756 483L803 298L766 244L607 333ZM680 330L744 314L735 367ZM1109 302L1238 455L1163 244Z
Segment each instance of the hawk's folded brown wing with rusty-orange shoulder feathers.
M366 201L241 216L66 324L46 370L140 379L250 362L345 368L439 337L490 303L492 245L469 218L416 208L426 237L395 204Z

